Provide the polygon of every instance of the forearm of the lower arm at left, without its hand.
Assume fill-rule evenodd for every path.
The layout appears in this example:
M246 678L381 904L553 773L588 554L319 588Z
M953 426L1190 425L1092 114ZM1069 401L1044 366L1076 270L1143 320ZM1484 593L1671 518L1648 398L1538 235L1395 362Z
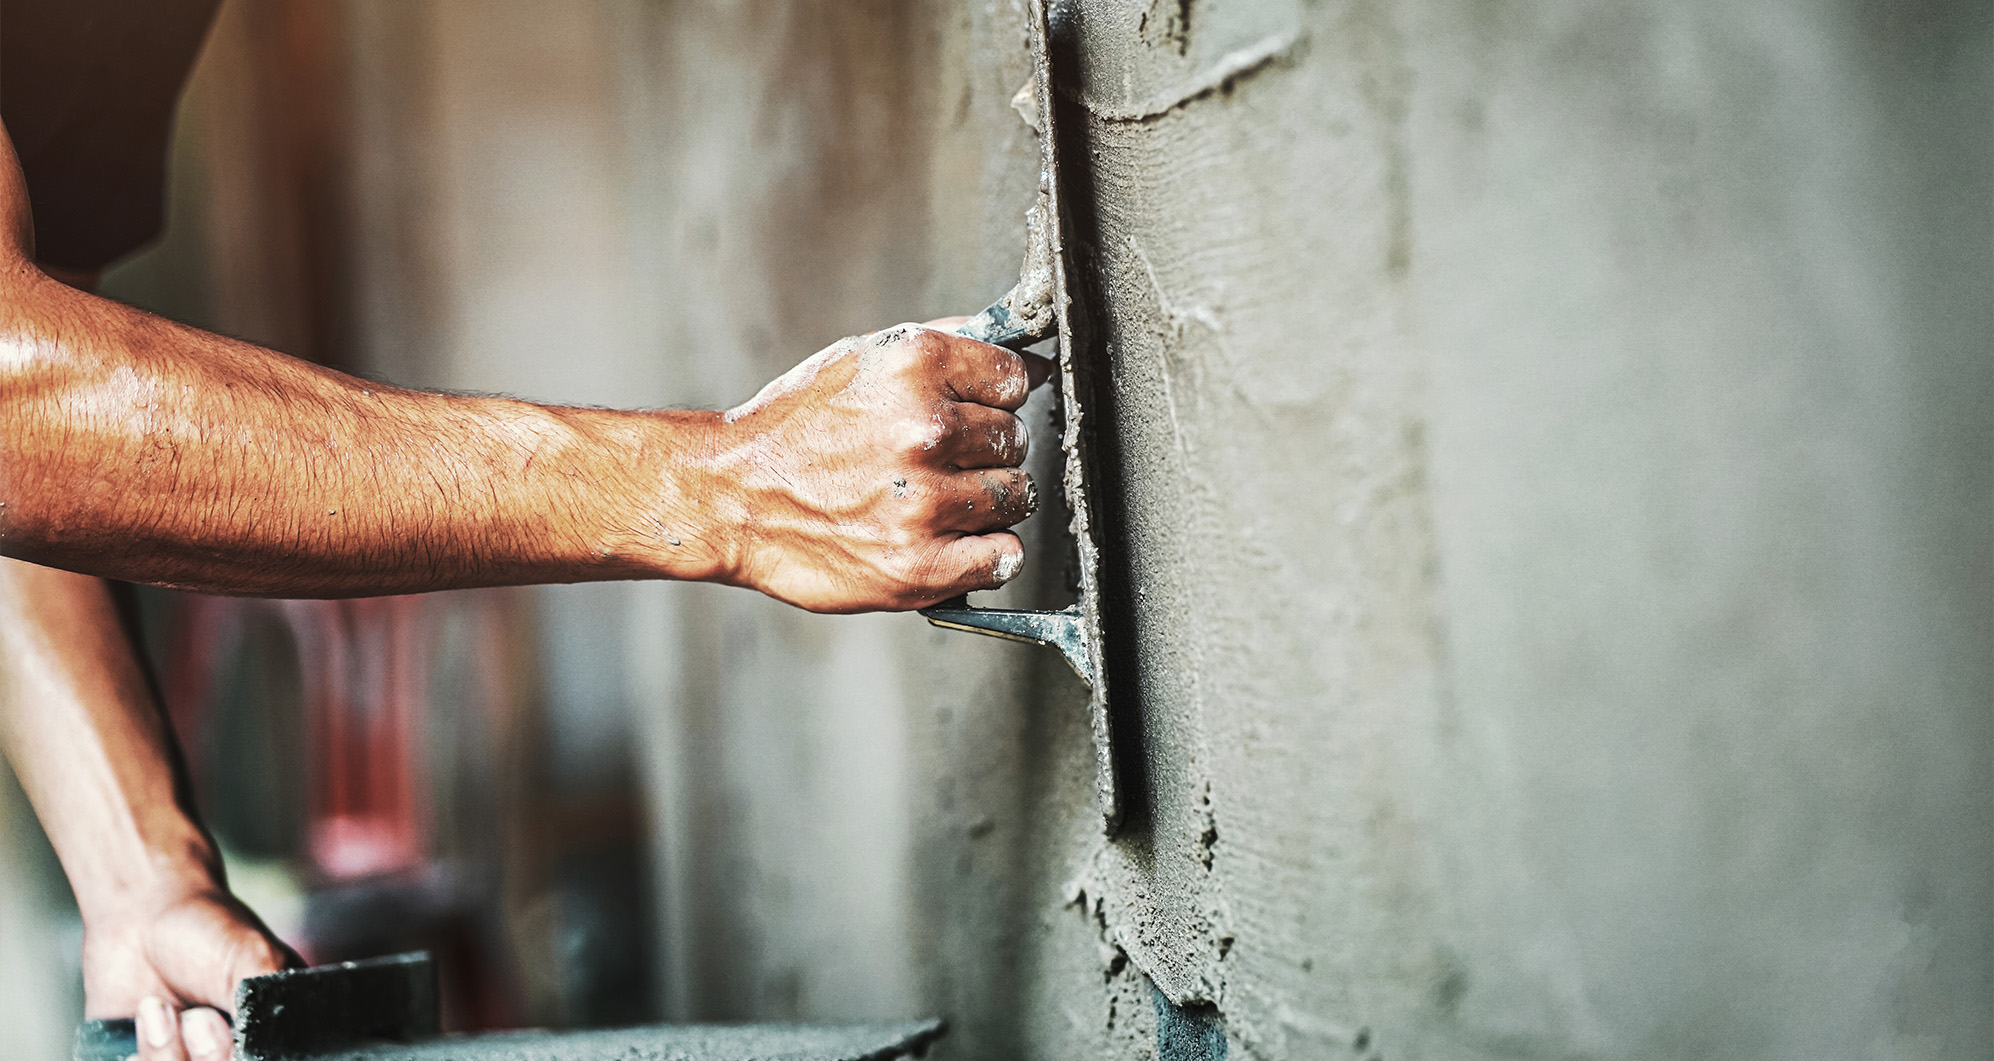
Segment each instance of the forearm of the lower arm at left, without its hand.
M0 560L0 740L86 923L219 885L102 580Z

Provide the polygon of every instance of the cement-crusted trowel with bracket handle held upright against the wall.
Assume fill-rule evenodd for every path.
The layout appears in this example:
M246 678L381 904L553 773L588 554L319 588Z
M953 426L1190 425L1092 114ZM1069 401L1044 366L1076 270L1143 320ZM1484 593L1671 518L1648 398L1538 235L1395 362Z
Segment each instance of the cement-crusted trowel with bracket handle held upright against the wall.
M1039 132L1039 199L1025 215L1025 265L1017 287L1007 291L989 309L977 313L957 333L999 347L1023 351L1025 347L1059 337L1059 385L1065 399L1065 493L1067 509L1073 513L1073 538L1079 544L1081 598L1057 612L1029 612L1003 608L973 608L967 596L957 596L921 608L935 626L989 634L997 638L1021 640L1059 648L1073 666L1073 672L1087 682L1089 714L1095 728L1095 794L1101 800L1101 818L1113 832L1123 818L1123 794L1115 776L1113 732L1107 710L1107 674L1101 666L1101 558L1095 548L1091 495L1087 491L1085 463L1085 409L1081 381L1089 377L1085 367L1075 375L1077 349L1073 321L1077 307L1067 275L1067 211L1063 209L1063 187L1059 183L1059 136L1055 126L1057 98L1053 96L1051 48L1047 44L1045 0L1031 0L1025 18L1031 32L1031 84L1021 92L1017 106L1023 114L1035 116L1031 122Z

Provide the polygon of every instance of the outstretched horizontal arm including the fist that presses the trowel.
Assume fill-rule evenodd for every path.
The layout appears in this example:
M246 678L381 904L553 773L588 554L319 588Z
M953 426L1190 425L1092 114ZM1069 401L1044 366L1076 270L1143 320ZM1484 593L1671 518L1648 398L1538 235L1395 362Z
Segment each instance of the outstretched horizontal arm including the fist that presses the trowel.
M1023 556L1039 373L997 347L887 329L728 415L437 395L56 283L10 154L0 221L0 554L279 596L692 578L814 610L931 604Z

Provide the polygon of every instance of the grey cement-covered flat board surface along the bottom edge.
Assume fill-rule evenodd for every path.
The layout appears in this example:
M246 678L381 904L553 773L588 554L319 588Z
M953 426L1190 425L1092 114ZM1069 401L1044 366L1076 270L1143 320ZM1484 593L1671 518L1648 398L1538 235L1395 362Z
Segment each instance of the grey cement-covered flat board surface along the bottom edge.
M921 1057L941 1021L879 1025L660 1025L516 1031L377 1045L313 1061L893 1061Z

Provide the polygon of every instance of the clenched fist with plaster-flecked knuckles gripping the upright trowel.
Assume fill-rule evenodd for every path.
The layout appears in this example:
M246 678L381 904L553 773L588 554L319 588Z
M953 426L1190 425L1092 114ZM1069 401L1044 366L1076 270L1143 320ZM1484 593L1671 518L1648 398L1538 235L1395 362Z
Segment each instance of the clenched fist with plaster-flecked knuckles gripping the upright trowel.
M935 321L941 325L947 321ZM995 588L1037 509L1015 415L1051 361L899 325L839 341L728 411L730 582L818 612L901 610Z

